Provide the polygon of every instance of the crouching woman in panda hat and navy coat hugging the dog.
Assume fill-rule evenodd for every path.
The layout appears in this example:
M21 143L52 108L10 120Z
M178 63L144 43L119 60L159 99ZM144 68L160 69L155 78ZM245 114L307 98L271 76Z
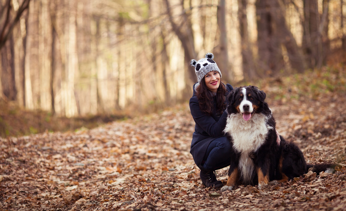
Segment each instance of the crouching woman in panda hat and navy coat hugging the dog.
M223 133L227 119L226 96L233 87L222 83L221 71L213 58L214 55L208 53L206 58L192 59L190 63L198 79L190 98L191 115L196 123L190 153L201 170L203 185L217 188L223 184L216 179L215 170L229 166L234 155Z

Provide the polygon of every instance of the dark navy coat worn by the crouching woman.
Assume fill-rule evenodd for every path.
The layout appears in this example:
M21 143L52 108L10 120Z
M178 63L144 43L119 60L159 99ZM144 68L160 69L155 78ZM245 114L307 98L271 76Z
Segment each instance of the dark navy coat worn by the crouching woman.
M196 96L195 85L193 85L193 95L190 98L190 111L195 121L195 131L192 134L191 150L193 160L196 165L204 170L202 166L202 160L206 150L211 141L215 138L224 135L223 130L226 126L227 112L224 111L221 115L216 114L216 97L213 97L214 109L212 115L207 115L205 112L202 112L199 108L198 99ZM224 85L224 84L221 84ZM226 96L228 93L233 90L233 87L230 84L226 86ZM226 105L228 100L226 97Z

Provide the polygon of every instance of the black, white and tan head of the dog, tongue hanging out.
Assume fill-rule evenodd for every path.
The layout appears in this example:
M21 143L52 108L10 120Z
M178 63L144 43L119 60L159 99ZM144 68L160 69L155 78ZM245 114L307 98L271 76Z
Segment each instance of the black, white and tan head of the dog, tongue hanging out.
M241 113L245 121L248 121L255 113L267 113L268 104L264 102L265 93L256 86L237 87L232 90L228 98L228 114Z

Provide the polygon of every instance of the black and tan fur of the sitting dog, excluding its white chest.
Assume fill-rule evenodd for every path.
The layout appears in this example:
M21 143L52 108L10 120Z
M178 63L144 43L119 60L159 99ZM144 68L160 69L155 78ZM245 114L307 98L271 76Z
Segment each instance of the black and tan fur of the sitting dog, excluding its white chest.
M272 180L279 180L280 182L292 180L295 177L307 173L309 169L319 173L325 171L328 167L335 167L330 163L317 165L307 164L299 147L293 142L287 142L281 135L281 142L279 145L277 144L276 123L271 109L265 102L266 94L258 90L255 86L238 87L229 93L227 96L229 102L227 106L228 121L230 121L230 116L232 114L242 115L239 105L242 99L244 99L244 88L246 89L246 99L248 100L246 104L252 104L253 107L251 118L254 115L262 114L266 119L265 124L268 126L267 128L270 129L267 131L265 139L261 141L261 145L256 150L250 153L246 152L254 164L251 180L244 180L244 178L242 178L242 172L239 169L239 159L244 152L239 152L233 147L235 153L232 154L233 159L229 167L227 185L221 189L222 191L232 190L238 180L245 184L261 185L261 183L267 184ZM246 106L244 105L244 108ZM240 119L240 121L245 121L244 119ZM227 131L227 126L225 132L229 141L234 144L234 137Z

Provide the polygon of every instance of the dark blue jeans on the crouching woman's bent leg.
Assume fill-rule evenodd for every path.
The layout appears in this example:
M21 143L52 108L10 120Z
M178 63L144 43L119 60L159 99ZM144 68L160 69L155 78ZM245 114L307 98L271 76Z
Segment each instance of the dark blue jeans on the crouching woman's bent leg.
M206 170L218 170L230 165L234 154L233 147L226 136L221 136L210 142L203 158L202 166Z

